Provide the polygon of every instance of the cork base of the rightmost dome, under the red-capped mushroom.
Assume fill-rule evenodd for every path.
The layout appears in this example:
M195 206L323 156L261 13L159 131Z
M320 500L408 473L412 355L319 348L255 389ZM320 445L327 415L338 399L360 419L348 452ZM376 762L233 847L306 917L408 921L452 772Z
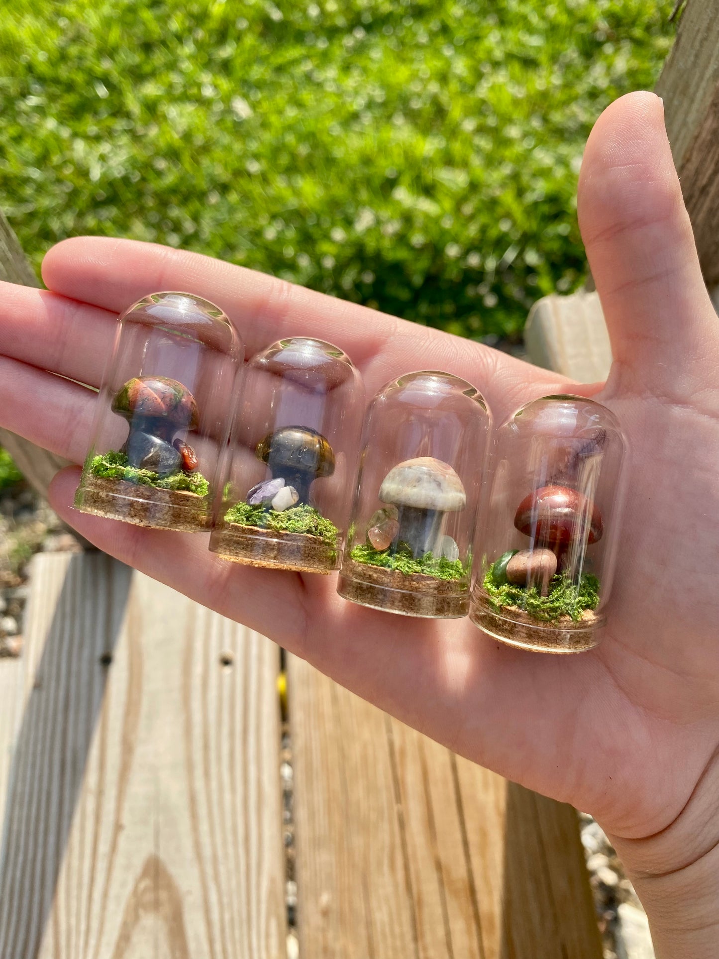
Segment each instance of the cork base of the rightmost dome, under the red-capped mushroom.
M492 608L487 597L475 593L470 619L483 632L501 643L541 653L581 653L598 642L603 618L587 609L579 621L562 616L556 622L533 619L516 606L507 606L501 613Z

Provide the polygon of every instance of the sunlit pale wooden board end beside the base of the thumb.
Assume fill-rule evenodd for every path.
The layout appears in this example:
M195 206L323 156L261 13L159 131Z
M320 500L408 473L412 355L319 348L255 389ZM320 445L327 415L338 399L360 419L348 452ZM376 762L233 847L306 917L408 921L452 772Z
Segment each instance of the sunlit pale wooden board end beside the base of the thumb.
M606 380L612 348L599 294L553 293L532 307L524 329L532 363L564 373L579 383Z

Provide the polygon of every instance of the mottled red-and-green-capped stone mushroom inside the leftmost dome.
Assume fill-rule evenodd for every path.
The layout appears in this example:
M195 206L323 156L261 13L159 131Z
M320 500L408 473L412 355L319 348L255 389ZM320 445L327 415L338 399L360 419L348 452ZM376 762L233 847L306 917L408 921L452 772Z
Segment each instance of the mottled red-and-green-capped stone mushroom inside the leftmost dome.
M192 447L184 441L173 445L175 433L195 430L199 422L195 397L186 386L164 376L135 377L116 393L111 409L128 420L130 466L159 476L197 466Z

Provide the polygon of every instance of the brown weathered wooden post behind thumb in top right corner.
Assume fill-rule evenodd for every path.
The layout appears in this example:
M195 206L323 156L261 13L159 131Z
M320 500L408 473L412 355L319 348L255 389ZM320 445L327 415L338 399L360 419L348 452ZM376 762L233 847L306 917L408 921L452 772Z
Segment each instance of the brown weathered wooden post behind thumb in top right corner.
M719 0L687 0L657 92L707 286L719 284Z

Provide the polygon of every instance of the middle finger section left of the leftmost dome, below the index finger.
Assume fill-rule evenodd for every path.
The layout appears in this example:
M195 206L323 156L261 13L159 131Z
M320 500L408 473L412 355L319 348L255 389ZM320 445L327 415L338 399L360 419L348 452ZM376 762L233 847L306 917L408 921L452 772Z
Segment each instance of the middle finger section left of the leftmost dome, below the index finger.
M46 290L0 281L0 353L100 386L117 316Z

